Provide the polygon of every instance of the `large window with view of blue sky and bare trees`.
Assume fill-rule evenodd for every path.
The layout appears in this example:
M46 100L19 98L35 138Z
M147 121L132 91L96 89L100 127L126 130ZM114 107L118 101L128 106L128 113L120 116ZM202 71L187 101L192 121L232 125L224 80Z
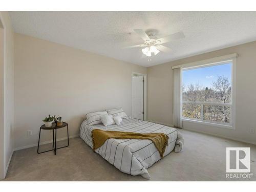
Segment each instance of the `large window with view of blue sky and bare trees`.
M182 118L233 126L233 60L182 70Z

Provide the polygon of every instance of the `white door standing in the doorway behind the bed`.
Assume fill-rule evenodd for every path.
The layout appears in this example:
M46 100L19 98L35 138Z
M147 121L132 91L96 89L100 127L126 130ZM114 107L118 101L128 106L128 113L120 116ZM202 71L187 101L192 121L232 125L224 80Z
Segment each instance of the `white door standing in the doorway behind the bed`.
M132 78L132 117L143 120L143 76Z

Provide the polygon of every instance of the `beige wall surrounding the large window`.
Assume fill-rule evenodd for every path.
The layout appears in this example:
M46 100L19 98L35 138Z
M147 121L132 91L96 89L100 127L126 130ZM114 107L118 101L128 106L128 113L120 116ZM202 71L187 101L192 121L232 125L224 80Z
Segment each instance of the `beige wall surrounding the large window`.
M206 126L198 123L184 122L185 129L206 132L231 139L256 144L256 133L249 133L250 128L256 130L256 41L188 57L147 69L147 118L163 124L173 124L173 72L172 66L188 62L238 53L237 58L237 94L236 94L236 130Z

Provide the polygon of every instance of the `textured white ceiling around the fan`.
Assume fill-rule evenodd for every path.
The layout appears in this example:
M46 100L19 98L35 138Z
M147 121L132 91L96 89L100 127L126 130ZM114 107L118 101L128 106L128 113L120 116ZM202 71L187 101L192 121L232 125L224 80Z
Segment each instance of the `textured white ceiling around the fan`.
M15 32L132 62L141 66L256 40L256 12L10 12ZM164 44L171 53L141 58L133 29L155 29L158 38L183 31L184 39ZM131 33L131 34L129 34Z

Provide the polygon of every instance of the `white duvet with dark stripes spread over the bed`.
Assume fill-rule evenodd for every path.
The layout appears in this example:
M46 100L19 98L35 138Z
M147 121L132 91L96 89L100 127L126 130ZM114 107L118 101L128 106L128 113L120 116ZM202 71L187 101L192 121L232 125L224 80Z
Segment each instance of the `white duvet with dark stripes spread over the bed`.
M80 137L91 148L93 148L91 132L94 129L135 133L164 133L169 137L164 156L174 150L178 136L178 131L173 127L131 117L123 119L119 125L114 124L108 127L103 124L88 125L87 120L85 120L80 127ZM96 153L121 172L134 176L141 175L147 179L150 178L147 168L161 159L157 148L151 140L108 139L101 147L97 148Z

